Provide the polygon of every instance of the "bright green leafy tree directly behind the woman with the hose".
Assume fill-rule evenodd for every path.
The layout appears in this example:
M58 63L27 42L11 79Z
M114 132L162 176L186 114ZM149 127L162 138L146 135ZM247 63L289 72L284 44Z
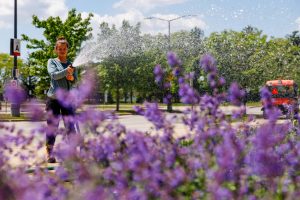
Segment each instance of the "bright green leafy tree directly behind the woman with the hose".
M44 29L44 40L29 38L22 34L22 39L27 43L26 47L34 50L29 55L31 63L30 73L39 77L36 89L39 94L49 86L49 75L47 73L47 60L55 57L54 46L58 36L67 38L70 48L68 58L73 60L76 53L81 47L81 43L91 37L92 28L90 20L93 15L89 14L86 19L81 14L76 14L76 10L72 9L68 12L67 19L63 22L60 17L49 17L46 20L40 20L37 16L33 16L32 24L36 28Z

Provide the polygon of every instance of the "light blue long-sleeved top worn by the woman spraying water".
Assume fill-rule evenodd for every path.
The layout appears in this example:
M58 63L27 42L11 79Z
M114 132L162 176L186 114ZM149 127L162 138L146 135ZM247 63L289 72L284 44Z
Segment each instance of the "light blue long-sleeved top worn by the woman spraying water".
M50 98L55 98L55 92L57 89L71 90L77 81L77 70L74 68L74 81L67 80L67 67L72 63L68 60L66 63L60 62L56 58L51 58L48 60L47 70L50 75L50 88L48 90L47 96Z

